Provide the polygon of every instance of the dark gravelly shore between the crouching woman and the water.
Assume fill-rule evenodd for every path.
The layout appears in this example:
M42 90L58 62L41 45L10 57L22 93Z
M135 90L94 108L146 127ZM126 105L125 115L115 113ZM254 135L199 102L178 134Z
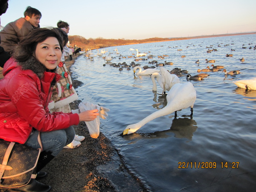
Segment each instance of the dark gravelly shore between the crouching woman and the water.
M66 61L68 70L78 56L74 56L72 61ZM75 89L81 84L73 79ZM80 102L72 102L71 109L78 108ZM80 122L74 128L76 134L83 135L85 140L78 148L64 148L43 169L48 176L40 182L52 186L52 192L149 191L138 177L129 172L122 156L107 137L100 133L97 139L91 138L85 122Z

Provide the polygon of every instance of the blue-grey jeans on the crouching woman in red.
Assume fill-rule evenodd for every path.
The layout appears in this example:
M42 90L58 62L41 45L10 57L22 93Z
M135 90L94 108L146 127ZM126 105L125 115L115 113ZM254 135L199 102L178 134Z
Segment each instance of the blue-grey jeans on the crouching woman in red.
M43 151L50 151L55 157L64 146L70 144L73 141L74 137L75 130L73 126L57 131L40 132ZM24 144L35 149L40 148L38 143L38 131L33 130L28 140Z

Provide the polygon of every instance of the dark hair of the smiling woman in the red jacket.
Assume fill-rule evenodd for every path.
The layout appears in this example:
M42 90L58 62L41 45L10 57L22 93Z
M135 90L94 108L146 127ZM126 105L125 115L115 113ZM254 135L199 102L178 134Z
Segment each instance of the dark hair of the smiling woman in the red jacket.
M35 54L35 49L38 43L43 42L49 37L57 38L61 52L63 51L63 38L57 28L38 28L29 33L19 44L15 47L13 57L16 61L27 61Z

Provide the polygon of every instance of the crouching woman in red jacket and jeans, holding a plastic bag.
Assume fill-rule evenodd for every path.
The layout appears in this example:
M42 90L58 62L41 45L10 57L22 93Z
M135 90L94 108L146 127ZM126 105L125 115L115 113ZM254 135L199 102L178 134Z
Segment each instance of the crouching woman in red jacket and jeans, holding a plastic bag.
M49 113L52 86L60 78L55 69L61 60L62 39L56 29L35 29L20 41L3 68L0 80L0 139L40 148L39 172L61 149L73 141L72 125L92 121L98 110ZM51 187L32 179L20 192L48 192Z

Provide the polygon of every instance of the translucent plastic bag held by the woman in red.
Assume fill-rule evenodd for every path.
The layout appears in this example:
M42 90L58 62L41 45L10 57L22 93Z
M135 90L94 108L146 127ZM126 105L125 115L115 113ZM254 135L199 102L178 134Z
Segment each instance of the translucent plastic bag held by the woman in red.
M99 105L94 105L90 102L81 102L78 105L80 111L86 111L86 110L92 110L92 109L98 109L99 111ZM90 137L92 138L98 138L99 137L99 116L97 116L93 121L85 121L87 128L90 133Z

